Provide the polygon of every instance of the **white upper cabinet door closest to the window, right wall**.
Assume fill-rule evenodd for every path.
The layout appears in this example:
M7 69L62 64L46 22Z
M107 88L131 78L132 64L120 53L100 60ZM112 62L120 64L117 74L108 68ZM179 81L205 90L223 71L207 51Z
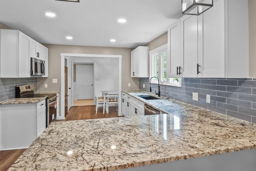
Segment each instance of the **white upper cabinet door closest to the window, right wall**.
M177 67L183 68L183 61L180 61L180 20L168 28L168 51L167 51L167 78L182 77L178 74Z

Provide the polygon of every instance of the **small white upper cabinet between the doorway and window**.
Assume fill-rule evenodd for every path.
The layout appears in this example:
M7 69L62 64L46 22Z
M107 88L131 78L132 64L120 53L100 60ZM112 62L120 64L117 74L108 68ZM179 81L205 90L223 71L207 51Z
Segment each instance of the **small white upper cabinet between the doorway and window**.
M131 52L131 77L149 77L148 53L148 46L139 46Z

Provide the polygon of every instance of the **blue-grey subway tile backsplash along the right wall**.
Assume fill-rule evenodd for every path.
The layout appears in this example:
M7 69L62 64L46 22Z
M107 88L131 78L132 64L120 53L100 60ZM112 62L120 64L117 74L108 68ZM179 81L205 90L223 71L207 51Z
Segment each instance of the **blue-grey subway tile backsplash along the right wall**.
M139 89L149 92L148 82L140 78ZM182 78L181 87L160 85L160 91L164 97L256 123L256 78ZM198 101L192 92L198 93Z

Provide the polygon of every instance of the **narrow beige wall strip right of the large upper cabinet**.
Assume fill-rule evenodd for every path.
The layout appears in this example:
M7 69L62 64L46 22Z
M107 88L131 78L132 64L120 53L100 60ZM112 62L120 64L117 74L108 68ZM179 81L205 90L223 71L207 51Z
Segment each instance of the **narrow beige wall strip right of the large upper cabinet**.
M256 78L256 0L248 0L249 5L249 71L250 78Z

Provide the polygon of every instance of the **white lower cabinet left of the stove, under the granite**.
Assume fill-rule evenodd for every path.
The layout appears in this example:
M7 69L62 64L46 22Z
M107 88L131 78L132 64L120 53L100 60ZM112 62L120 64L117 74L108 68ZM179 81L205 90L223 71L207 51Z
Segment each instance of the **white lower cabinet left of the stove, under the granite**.
M46 128L46 101L0 105L0 150L28 148Z

